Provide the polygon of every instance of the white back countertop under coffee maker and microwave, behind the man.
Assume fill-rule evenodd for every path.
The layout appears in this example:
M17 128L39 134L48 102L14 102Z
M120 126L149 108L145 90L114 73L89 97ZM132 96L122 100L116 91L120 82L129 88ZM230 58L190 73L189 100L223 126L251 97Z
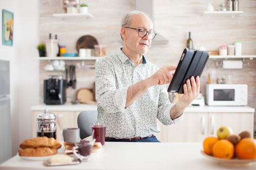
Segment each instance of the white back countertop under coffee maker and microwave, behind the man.
M95 104L71 104L46 105L39 104L31 107L32 111L43 111L47 108L49 111L91 111L97 110ZM254 113L255 109L249 106L188 106L185 113Z

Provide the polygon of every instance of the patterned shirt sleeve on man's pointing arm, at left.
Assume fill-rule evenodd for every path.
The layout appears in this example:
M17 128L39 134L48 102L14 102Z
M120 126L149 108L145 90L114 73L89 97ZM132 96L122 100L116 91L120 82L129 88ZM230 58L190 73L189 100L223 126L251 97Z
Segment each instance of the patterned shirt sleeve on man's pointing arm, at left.
M96 63L96 100L98 106L109 113L125 109L127 87L116 88L114 70L106 63Z

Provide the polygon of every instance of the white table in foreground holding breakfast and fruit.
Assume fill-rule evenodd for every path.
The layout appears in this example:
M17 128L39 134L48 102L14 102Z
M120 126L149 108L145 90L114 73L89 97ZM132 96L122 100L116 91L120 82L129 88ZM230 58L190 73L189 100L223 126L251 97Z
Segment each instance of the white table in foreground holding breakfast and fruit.
M93 153L90 162L45 167L18 155L0 165L0 170L256 170L218 164L201 155L202 143L106 142L103 152ZM60 152L59 152L60 153Z

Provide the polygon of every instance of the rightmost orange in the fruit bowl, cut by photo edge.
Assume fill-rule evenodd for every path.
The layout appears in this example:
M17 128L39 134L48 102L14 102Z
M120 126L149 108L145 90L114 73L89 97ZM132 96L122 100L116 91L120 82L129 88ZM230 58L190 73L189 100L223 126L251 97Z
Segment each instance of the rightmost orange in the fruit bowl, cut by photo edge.
M236 155L239 159L256 159L256 140L243 138L236 144Z

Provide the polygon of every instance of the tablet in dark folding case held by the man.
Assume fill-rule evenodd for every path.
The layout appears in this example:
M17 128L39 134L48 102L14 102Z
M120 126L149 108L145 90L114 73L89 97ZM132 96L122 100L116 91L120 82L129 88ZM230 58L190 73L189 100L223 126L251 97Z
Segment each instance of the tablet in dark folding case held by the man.
M200 77L208 58L208 51L184 49L167 91L183 94L183 85L186 80L191 76Z

